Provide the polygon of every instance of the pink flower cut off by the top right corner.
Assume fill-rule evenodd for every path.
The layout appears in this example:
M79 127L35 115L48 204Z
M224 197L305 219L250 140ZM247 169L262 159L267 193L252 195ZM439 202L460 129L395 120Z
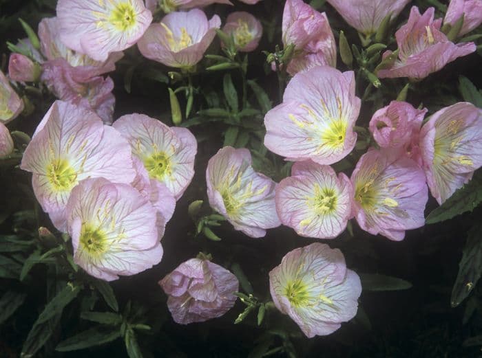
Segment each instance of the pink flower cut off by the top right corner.
M482 0L450 0L443 23L454 25L463 15L459 36L471 32L482 23Z

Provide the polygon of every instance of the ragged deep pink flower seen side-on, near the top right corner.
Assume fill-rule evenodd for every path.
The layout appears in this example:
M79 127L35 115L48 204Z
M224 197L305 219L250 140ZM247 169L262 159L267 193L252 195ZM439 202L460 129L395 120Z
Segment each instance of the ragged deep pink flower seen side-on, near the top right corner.
M413 6L408 23L395 33L399 47L398 59L390 69L378 71L379 78L410 77L421 79L442 69L456 58L475 51L474 43L455 45L440 31L442 19L434 21L434 8L423 15ZM392 52L386 51L384 58Z

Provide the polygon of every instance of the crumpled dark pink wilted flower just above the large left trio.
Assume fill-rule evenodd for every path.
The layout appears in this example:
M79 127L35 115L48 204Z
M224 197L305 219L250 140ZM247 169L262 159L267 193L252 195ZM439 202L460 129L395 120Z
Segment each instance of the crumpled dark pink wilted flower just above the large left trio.
M110 77L84 78L63 58L47 61L42 68L41 80L54 96L95 111L105 124L112 123L116 99L112 94L114 82Z

